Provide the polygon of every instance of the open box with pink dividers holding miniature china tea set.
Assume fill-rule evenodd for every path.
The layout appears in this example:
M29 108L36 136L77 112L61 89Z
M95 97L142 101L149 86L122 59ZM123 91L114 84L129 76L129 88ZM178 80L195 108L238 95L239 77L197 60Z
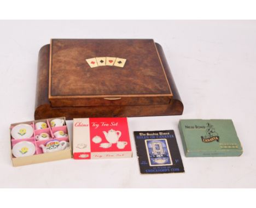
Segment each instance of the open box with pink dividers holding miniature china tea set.
M13 166L72 158L65 117L10 125Z

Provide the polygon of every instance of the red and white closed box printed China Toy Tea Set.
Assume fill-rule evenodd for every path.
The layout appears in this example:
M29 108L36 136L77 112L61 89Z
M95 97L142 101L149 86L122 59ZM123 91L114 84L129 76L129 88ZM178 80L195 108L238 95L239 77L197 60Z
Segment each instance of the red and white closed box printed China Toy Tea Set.
M73 158L77 160L132 156L127 118L73 120Z

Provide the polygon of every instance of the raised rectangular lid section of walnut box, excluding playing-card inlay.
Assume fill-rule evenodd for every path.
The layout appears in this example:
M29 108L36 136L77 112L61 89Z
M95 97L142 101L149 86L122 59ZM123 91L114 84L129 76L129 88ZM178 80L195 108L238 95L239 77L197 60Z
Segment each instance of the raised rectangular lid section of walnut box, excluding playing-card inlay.
M124 68L86 59L119 57ZM49 101L53 107L164 105L172 90L152 39L52 39Z

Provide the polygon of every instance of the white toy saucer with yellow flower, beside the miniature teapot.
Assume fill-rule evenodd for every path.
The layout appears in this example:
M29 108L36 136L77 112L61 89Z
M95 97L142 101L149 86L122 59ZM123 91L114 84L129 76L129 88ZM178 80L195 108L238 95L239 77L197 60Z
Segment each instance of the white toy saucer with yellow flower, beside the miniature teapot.
M14 157L31 156L36 152L36 146L32 142L19 142L13 146L12 152Z

